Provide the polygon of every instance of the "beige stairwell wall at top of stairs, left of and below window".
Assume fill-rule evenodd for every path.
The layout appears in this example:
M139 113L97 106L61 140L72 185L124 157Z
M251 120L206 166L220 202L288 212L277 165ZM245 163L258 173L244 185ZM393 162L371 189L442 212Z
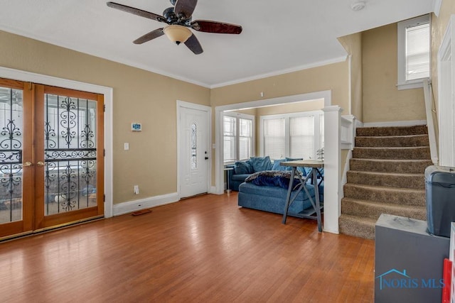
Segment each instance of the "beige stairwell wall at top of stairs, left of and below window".
M397 90L397 23L362 33L363 122L425 120L423 89Z

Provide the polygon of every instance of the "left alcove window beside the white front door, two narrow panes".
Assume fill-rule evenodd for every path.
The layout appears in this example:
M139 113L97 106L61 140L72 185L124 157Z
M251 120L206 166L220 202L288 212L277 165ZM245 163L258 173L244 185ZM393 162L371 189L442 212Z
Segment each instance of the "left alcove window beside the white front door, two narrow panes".
M253 155L255 117L229 112L223 121L224 162L249 159Z

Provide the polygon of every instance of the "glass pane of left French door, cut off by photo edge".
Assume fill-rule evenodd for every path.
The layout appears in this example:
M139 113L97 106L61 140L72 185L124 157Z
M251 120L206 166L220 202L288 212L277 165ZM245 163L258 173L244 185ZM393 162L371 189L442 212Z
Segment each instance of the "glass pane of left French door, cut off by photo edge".
M22 100L0 87L0 224L22 220Z

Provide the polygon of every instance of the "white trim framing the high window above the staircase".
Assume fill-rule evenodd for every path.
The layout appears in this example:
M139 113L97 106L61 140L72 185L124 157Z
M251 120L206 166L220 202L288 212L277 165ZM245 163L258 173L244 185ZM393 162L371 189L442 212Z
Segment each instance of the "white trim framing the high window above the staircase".
M432 31L432 19L430 15L419 16L417 18L408 19L405 21L398 22L397 26L397 70L398 70L398 83L397 89L417 89L423 87L423 79L414 79L406 81L406 28L412 25L429 23L430 33ZM430 35L431 36L431 35ZM431 43L431 41L429 41ZM431 45L431 44L430 44ZM430 58L432 57L432 48L430 47ZM432 70L432 60L429 62L429 70ZM431 74L430 74L431 75ZM430 78L427 78L430 79Z

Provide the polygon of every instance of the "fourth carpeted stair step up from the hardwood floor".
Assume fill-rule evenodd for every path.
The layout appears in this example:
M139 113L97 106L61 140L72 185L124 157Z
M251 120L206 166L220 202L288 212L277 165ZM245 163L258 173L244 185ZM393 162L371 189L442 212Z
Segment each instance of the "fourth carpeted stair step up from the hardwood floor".
M348 171L348 183L425 189L424 174Z

